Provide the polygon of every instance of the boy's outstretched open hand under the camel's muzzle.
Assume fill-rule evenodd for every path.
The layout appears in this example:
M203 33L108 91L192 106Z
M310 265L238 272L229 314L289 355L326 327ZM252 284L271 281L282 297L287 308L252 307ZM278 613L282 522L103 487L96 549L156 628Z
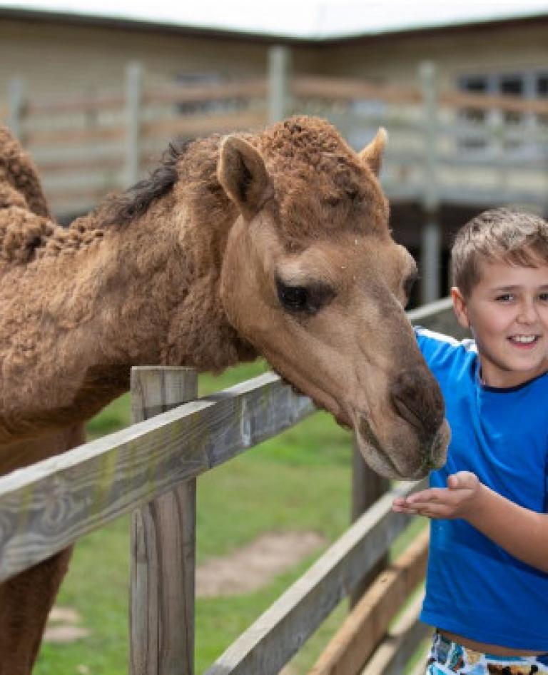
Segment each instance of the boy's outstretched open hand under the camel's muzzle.
M482 484L476 474L460 471L447 478L447 487L430 487L398 497L392 510L428 518L466 518L473 512Z

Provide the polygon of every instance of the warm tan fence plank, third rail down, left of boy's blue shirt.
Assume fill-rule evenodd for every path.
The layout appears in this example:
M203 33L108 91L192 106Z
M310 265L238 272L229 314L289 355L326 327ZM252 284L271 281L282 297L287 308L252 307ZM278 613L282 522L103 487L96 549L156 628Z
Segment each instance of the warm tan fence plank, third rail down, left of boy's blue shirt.
M357 675L385 636L412 589L425 575L427 530L382 572L347 616L310 675Z

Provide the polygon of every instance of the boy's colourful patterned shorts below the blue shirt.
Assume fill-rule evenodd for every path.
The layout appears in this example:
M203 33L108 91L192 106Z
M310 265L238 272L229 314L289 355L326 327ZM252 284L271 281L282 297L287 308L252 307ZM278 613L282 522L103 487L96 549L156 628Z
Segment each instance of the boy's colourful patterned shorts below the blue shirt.
M548 673L548 654L495 656L480 654L456 642L434 635L425 675L533 675Z

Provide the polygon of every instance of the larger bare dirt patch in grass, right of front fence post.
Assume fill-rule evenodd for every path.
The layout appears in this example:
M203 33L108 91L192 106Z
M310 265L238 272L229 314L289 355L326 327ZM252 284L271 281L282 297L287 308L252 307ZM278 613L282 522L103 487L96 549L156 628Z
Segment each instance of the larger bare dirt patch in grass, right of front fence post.
M316 532L263 534L248 546L200 565L196 595L210 598L256 591L325 543Z

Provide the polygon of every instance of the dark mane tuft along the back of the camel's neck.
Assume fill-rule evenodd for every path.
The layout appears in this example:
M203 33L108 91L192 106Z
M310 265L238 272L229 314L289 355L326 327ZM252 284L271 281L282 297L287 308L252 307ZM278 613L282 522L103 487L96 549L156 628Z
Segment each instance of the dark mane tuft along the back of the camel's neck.
M139 181L119 195L108 199L105 205L103 225L125 225L146 213L148 207L175 185L178 179L177 163L188 150L192 141L171 141L164 151L160 164L151 171L148 178Z

